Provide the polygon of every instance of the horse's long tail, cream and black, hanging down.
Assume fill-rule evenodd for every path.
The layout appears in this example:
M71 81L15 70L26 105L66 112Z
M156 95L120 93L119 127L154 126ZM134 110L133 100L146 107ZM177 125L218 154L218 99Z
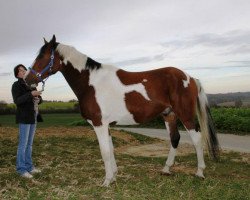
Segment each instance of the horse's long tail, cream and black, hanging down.
M219 157L220 146L215 132L207 96L200 81L196 79L195 82L198 88L196 114L200 124L201 134L203 136L203 140L205 140L205 143L207 144L209 155L213 159L217 160Z

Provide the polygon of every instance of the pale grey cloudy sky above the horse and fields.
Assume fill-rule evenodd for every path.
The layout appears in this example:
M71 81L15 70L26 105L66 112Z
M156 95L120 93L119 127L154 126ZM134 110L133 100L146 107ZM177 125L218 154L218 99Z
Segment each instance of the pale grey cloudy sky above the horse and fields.
M0 101L13 102L13 68L53 34L127 71L174 66L206 93L250 91L249 0L0 0ZM42 96L76 99L60 72Z

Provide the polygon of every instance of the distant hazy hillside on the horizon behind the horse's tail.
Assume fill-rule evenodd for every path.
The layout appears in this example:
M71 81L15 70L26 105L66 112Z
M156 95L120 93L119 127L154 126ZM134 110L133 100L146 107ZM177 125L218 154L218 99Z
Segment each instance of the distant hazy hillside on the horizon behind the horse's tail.
M243 104L247 104L250 102L250 92L233 92L233 93L225 93L225 94L207 94L208 101L210 105L224 105L225 103L229 103L232 105L235 101L242 101ZM228 104L228 105L229 105ZM227 105L227 104L225 104Z

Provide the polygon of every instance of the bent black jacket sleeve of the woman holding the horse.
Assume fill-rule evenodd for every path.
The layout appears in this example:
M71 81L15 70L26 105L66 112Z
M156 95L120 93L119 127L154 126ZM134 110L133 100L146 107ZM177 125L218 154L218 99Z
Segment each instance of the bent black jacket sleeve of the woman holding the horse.
M12 85L12 97L14 100L14 103L18 106L21 105L23 103L32 101L33 96L31 94L31 92L26 92L24 94L22 94L22 91L20 90L20 88L18 87L18 85L16 83L14 83Z

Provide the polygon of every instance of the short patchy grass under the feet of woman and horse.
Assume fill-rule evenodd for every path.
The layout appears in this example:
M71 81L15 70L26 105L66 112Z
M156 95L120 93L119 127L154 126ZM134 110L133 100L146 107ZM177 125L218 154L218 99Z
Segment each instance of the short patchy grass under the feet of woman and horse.
M165 157L132 156L118 151L159 142L112 131L117 182L100 187L104 165L94 132L83 127L39 128L34 163L43 173L26 180L15 173L17 128L0 127L0 199L249 199L249 154L224 153L219 162L206 157L205 180L194 177L196 156L178 156L171 176L162 176Z

